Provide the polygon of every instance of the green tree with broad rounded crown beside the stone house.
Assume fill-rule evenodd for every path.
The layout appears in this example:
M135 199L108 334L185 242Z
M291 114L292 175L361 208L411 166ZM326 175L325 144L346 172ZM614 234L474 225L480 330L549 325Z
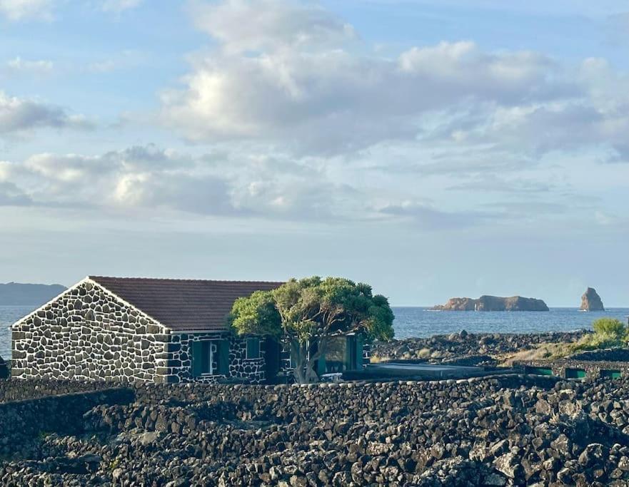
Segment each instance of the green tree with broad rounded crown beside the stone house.
M299 383L318 380L316 361L332 337L362 333L368 341L393 338L393 312L371 286L341 277L291 279L277 289L237 299L229 318L237 334L271 334L290 344ZM316 344L316 351L308 349Z

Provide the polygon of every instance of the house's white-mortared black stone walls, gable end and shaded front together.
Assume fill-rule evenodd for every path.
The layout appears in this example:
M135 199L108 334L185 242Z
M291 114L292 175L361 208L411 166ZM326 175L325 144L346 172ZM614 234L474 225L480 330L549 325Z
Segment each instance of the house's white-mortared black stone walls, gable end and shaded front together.
M86 281L16 324L13 368L18 379L215 382L191 376L190 344L230 341L229 377L260 382L264 360L246 359L246 340L227 333L169 330L98 284Z

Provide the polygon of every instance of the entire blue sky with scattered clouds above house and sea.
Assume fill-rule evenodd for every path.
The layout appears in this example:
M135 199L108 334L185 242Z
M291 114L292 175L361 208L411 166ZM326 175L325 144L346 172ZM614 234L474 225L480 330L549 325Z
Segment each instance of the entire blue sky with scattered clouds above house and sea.
M629 7L0 0L0 282L629 305Z

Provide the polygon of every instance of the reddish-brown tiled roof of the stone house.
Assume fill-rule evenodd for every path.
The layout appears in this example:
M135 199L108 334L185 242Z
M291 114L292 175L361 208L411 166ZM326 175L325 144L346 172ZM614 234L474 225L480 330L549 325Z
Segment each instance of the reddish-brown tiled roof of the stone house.
M174 330L224 330L238 297L283 282L146 279L89 276L109 291Z

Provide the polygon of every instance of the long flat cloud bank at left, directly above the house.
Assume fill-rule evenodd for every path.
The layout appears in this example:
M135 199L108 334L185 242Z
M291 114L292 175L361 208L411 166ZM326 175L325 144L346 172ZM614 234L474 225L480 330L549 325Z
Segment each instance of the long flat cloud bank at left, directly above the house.
M236 153L192 157L155 145L101 155L34 154L0 165L0 178L32 204L56 207L330 222L360 213L364 204L350 185L290 160Z

